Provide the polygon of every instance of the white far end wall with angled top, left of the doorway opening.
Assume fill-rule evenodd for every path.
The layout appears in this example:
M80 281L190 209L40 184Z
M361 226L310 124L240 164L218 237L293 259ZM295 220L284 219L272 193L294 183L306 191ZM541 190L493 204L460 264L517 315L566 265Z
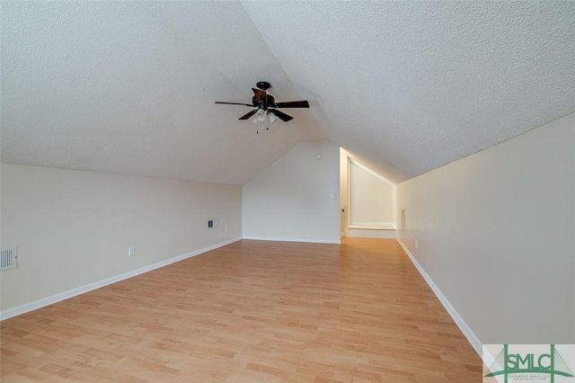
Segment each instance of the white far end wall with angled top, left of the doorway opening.
M243 185L243 237L340 243L339 189L340 148L302 142Z

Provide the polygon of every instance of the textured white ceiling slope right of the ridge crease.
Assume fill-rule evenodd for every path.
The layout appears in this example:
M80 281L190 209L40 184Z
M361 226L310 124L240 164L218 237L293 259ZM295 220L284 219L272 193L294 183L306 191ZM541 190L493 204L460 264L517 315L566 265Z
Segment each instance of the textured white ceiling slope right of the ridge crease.
M243 2L333 141L395 182L575 111L575 2Z

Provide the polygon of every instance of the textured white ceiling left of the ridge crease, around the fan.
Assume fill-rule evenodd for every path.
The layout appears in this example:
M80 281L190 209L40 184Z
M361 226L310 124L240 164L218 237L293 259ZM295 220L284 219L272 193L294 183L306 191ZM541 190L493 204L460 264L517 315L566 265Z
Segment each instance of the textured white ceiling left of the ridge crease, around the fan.
M2 160L242 184L325 138L308 110L256 135L214 104L261 80L301 99L239 3L2 2Z

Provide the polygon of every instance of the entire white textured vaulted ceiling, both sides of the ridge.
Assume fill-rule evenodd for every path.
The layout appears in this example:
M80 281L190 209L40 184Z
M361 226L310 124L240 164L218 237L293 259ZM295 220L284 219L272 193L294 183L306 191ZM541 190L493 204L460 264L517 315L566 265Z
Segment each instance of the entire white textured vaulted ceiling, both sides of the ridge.
M331 138L400 182L575 111L575 2L2 2L2 160L245 183ZM257 81L296 119L237 118Z

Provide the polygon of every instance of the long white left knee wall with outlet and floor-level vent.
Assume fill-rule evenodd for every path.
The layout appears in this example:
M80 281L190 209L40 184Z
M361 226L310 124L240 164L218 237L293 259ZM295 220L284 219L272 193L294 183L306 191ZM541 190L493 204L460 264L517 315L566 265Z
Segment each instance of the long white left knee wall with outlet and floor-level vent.
M10 164L1 174L2 245L19 256L1 273L3 311L242 236L241 186Z

